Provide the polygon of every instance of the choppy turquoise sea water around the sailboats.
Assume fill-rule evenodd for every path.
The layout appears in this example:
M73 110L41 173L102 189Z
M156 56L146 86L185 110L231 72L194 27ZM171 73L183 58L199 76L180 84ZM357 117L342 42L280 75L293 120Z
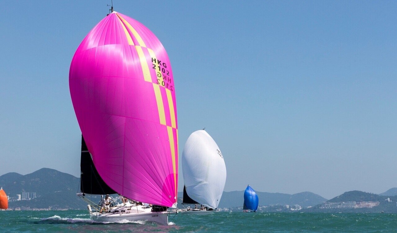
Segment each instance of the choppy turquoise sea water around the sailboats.
M206 216L177 214L169 219L172 225L168 226L104 224L89 220L85 210L0 211L0 232L397 232L397 214L216 212Z

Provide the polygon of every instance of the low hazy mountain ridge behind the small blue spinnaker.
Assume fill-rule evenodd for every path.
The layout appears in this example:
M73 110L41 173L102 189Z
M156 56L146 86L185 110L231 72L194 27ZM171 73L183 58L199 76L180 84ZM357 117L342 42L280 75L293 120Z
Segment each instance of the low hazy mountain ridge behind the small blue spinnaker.
M285 194L285 193L268 193L268 192L258 192L256 194L259 198L259 206L269 206L269 205L300 205L302 207L315 206L320 203L327 201L324 197L311 192L302 192L295 194ZM183 197L183 193L178 193L179 197ZM182 199L178 201L181 203ZM222 199L219 203L219 208L228 207L239 207L243 206L244 202L244 191L230 191L224 192L222 194Z

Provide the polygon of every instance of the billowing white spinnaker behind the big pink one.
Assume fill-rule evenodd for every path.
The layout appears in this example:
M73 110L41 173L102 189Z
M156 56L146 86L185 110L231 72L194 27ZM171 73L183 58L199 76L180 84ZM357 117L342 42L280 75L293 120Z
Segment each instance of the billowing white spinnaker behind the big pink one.
M210 134L190 134L182 153L182 174L186 193L198 203L217 208L226 182L223 155Z

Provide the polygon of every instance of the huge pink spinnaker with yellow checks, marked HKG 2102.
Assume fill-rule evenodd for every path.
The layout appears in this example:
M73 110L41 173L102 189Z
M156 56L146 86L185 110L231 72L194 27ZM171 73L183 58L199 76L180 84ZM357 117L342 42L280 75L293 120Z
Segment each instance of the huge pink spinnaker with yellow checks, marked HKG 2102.
M69 88L104 182L129 199L176 206L175 88L158 38L138 21L111 13L77 48Z

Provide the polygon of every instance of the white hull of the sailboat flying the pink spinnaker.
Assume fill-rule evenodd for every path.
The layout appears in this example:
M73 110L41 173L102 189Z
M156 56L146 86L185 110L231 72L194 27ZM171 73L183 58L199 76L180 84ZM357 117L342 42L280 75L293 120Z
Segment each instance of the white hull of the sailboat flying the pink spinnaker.
M88 206L91 210L91 206ZM148 221L162 225L168 225L168 214L172 212L152 212L152 208L142 208L146 206L114 206L106 212L91 212L90 219L96 222L119 222L125 221Z

